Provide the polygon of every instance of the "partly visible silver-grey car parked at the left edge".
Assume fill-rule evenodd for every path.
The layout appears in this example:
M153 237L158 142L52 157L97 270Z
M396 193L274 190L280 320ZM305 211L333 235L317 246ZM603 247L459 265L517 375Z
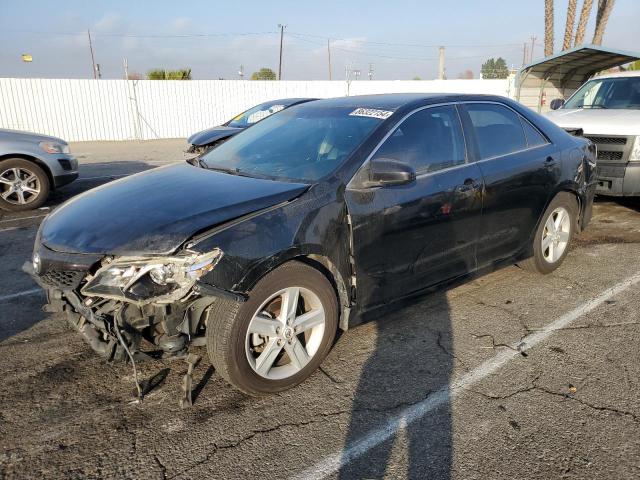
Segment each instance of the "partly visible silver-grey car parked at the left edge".
M0 209L31 210L78 178L78 161L60 138L0 129Z

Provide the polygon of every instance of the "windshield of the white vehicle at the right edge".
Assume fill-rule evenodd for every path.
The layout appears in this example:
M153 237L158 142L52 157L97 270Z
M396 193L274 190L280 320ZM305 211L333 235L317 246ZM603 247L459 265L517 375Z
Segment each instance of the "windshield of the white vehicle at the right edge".
M640 108L640 77L594 79L585 83L564 108Z

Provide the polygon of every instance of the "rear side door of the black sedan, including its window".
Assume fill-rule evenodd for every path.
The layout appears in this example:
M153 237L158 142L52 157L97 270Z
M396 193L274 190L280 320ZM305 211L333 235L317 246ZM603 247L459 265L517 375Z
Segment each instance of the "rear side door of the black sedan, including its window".
M540 131L504 104L465 103L463 119L485 181L477 251L482 268L528 247L559 181L561 158Z

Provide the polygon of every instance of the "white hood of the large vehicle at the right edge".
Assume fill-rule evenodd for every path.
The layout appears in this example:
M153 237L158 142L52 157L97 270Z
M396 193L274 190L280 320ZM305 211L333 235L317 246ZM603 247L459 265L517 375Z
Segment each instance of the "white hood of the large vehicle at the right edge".
M582 128L585 135L640 135L640 110L561 108L546 115L562 128Z

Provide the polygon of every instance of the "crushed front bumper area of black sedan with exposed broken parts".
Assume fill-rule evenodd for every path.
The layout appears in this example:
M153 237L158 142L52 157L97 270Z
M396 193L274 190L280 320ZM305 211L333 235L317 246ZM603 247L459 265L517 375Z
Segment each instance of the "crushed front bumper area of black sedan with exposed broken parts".
M46 290L44 310L63 313L91 348L107 360L125 360L127 350L143 354L142 345L162 356L186 353L188 344L203 343L211 304L218 297L233 295L196 283L188 295L171 303L139 305L86 296L81 290L87 277L100 267L102 255L60 253L40 245L34 259L26 262L23 270Z

